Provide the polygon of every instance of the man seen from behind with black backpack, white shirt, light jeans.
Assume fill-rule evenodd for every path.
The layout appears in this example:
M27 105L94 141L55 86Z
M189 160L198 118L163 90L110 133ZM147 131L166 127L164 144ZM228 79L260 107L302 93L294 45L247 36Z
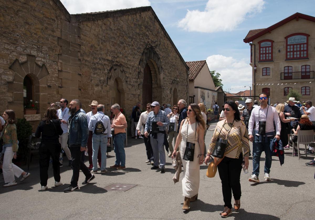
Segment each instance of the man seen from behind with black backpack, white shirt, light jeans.
M101 165L100 165L100 172L107 173L106 169L106 150L107 150L107 142L108 139L112 136L112 129L111 129L111 121L107 115L104 114L104 105L97 106L97 113L90 118L89 121L89 130L92 130L92 161L93 161L93 170L91 173L97 173L97 153L100 150L101 152ZM96 124L100 122L103 124L104 127L97 126ZM95 134L95 129L97 133Z

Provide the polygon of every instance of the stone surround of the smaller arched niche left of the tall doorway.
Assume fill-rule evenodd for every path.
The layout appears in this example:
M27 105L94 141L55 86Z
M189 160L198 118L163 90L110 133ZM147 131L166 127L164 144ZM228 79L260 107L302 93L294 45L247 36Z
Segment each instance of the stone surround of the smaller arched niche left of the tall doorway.
M115 85L115 81L117 82L118 85L118 91L120 93L120 100L121 103L118 103L122 108L126 108L126 96L125 93L127 92L127 82L126 82L126 73L123 70L123 67L120 65L113 65L107 74L107 79L106 79L106 84L109 86L109 90L111 91L111 88ZM109 104L105 106L105 109L110 113L110 108L112 104L112 93L107 92L107 98L109 100Z

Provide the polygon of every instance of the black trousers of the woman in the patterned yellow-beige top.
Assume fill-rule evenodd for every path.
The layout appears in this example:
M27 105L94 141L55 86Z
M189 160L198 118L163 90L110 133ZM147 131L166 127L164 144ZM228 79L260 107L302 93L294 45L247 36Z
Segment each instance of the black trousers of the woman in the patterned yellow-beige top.
M241 198L240 176L242 170L243 156L239 158L224 157L218 165L218 172L222 183L222 194L224 206L232 208L232 193L234 200Z

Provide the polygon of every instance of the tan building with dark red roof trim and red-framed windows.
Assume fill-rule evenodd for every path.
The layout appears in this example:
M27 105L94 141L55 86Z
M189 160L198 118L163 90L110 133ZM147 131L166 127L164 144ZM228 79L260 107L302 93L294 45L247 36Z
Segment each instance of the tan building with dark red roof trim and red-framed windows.
M250 30L253 95L269 95L270 103L286 102L291 89L302 100L314 100L315 17L295 13L265 28Z

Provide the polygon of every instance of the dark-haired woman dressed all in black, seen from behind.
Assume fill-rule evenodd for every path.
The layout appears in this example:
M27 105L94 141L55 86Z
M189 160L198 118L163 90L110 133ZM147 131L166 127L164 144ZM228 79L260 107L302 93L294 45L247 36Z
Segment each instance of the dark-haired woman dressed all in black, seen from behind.
M42 135L42 142L39 146L39 173L41 190L48 188L48 168L49 159L53 159L55 186L62 185L60 181L60 163L59 155L61 145L59 143L59 135L63 134L57 111L53 107L49 107L44 115L44 119L39 123L35 136L39 138Z

